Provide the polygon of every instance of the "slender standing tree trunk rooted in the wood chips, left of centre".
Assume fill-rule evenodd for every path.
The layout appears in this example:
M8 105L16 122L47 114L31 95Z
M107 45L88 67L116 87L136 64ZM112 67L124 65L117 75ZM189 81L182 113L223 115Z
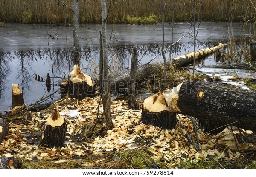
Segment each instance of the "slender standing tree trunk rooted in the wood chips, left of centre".
M108 78L108 48L106 39L106 25L107 25L107 8L106 1L101 0L102 4L102 56L103 56L103 68L102 68L102 103L103 103L103 115L104 122L108 129L113 128L113 122L111 119L111 100L110 100L110 83Z

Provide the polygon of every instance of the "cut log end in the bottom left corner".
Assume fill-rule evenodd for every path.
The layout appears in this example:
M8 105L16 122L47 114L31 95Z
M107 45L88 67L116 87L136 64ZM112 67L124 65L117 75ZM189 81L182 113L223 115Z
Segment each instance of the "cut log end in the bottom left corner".
M0 169L21 169L22 166L22 160L16 157L0 157Z

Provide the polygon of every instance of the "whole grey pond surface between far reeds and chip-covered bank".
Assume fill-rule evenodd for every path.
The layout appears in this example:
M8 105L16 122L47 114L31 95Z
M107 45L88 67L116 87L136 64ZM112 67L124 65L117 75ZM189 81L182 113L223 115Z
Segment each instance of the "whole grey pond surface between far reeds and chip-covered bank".
M171 43L172 24L165 24L166 48ZM109 65L111 71L129 67L131 53L137 48L140 64L145 64L161 51L162 28L156 25L109 24L107 26ZM81 24L79 46L81 48L81 68L88 75L98 73L99 64L99 24ZM185 23L174 25L172 57L193 51L192 26ZM197 35L196 50L215 45L216 41L228 40L230 35L241 35L239 23L202 22ZM182 39L180 39L183 37ZM49 26L42 24L6 24L0 28L0 111L10 110L12 105L12 83L20 84L25 104L29 105L43 96L58 90L58 81L67 78L72 64L73 27ZM169 57L169 51L166 51ZM161 61L162 56L154 62ZM215 65L213 57L204 62ZM47 92L43 78L47 73L52 77L51 91ZM60 98L55 94L53 99ZM51 100L48 100L51 101Z

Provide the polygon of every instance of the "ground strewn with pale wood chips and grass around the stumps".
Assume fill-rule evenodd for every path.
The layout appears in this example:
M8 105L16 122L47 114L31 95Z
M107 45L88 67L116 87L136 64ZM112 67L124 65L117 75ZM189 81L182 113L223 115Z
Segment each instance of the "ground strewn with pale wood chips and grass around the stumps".
M18 158L23 168L256 167L252 151L233 152L220 147L198 124L197 138L192 121L184 115L177 115L175 129L164 130L143 124L141 110L117 100L111 102L114 128L107 130L100 121L103 107L99 101L98 97L81 101L64 98L40 112L29 112L26 106L13 110L0 156ZM67 123L65 147L38 146L45 122L56 107ZM96 119L100 124L95 124Z

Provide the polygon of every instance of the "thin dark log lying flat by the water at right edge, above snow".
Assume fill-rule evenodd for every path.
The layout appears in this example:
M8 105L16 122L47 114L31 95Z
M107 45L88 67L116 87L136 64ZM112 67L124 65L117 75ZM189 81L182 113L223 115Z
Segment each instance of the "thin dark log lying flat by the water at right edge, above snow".
M256 61L250 62L253 67L256 68ZM236 69L236 70L254 70L249 63L233 63L229 65L213 65L213 66L203 66L205 68L221 68L221 69Z

